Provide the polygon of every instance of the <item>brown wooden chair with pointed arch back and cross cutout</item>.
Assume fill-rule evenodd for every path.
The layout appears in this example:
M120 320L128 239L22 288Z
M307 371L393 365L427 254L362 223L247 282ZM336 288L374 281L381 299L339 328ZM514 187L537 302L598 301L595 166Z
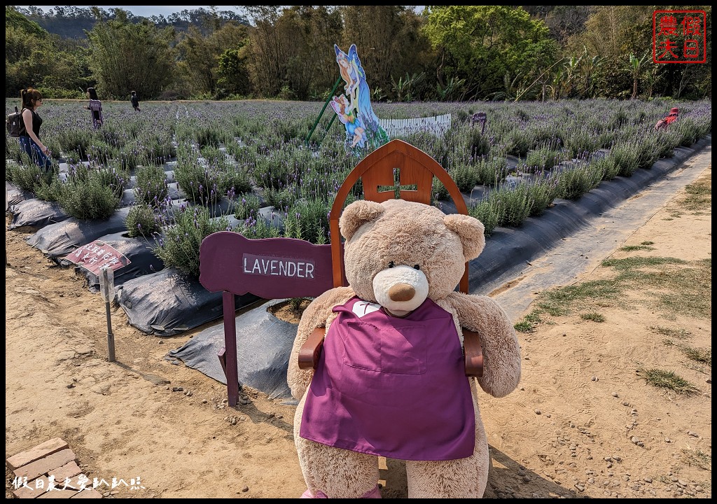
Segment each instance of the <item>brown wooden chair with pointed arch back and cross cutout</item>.
M356 182L361 181L364 188L364 199L369 201L381 203L394 199L398 189L400 199L429 205L431 204L433 177L436 177L448 190L457 211L460 214L467 214L465 200L447 171L427 153L404 141L393 140L377 148L348 173L346 180L343 181L336 193L336 199L333 201L329 214L334 287L346 285L338 219L346 204L346 197ZM397 180L398 188L396 187ZM459 288L460 292L468 293L467 262ZM300 369L316 368L325 333L326 328L316 328L300 348ZM463 341L466 376L483 376L483 351L480 347L478 333L463 328Z

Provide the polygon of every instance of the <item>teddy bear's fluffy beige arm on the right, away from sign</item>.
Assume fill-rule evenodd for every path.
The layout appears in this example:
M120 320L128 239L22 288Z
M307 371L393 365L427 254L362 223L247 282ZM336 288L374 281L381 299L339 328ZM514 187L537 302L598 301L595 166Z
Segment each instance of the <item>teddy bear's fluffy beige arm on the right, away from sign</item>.
M480 335L483 352L480 388L494 397L510 394L521 379L521 350L508 315L487 296L451 293L450 301L460 325Z

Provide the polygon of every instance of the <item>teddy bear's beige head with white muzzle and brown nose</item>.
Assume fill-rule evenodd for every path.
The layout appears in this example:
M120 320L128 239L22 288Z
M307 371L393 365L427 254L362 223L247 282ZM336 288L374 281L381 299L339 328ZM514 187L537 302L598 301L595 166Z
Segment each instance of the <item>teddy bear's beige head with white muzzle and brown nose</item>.
M397 316L452 293L485 245L478 219L401 199L354 201L338 223L349 285Z

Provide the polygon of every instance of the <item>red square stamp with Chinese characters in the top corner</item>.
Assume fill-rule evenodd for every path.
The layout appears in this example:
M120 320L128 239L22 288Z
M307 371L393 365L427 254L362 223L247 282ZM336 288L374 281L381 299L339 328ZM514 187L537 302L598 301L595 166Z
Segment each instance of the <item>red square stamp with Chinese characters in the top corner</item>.
M652 61L707 62L705 11L652 12Z

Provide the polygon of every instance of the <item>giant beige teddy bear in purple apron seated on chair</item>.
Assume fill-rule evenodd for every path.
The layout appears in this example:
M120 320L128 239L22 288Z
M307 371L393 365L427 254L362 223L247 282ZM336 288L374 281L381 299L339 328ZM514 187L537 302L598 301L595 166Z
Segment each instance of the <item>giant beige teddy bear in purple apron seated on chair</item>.
M328 290L304 311L288 369L300 399L302 497L381 497L379 456L406 461L409 498L482 497L490 458L476 383L502 397L521 376L503 309L455 290L465 263L483 250L483 224L392 199L354 201L339 227L349 287ZM315 369L303 369L305 343L322 327ZM462 328L480 334L478 379L466 376Z

